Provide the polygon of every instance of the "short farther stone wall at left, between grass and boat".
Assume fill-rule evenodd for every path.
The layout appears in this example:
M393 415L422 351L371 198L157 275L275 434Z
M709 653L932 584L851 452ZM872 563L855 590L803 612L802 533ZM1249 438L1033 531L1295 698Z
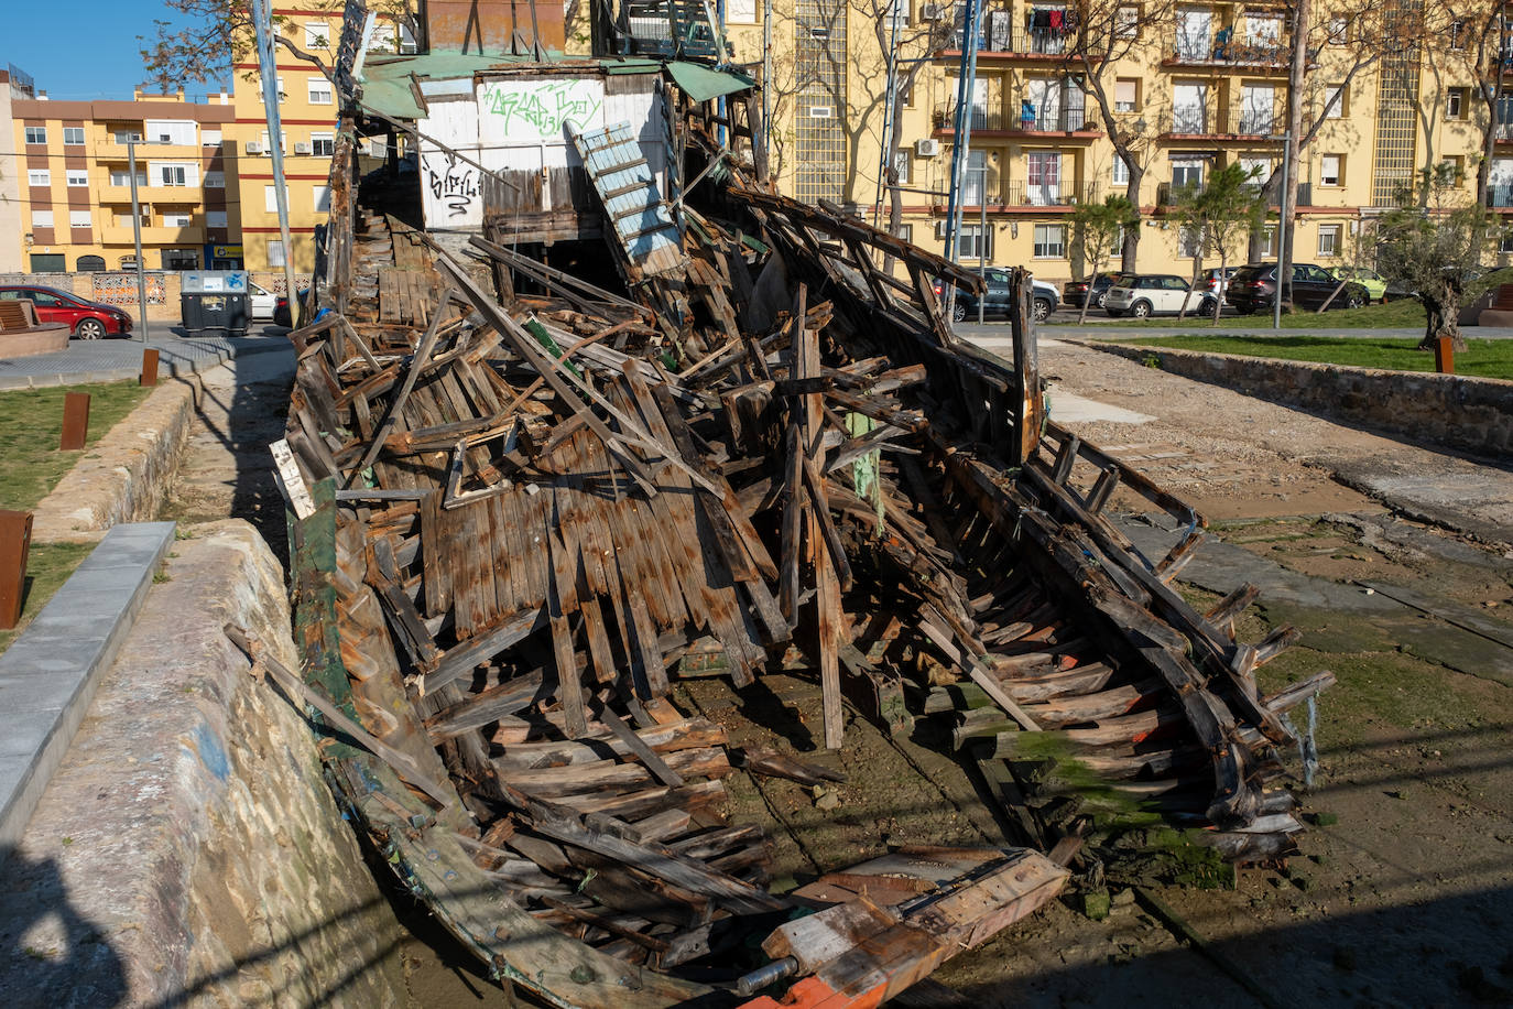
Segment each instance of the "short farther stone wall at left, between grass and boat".
M97 540L120 522L156 517L172 487L201 395L197 375L160 384L33 508L32 539Z

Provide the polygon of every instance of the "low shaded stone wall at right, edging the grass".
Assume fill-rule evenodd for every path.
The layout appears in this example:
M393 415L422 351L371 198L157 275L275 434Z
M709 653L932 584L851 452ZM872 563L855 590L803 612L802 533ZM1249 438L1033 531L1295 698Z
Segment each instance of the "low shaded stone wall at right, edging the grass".
M1076 340L1074 340L1076 342ZM1108 354L1363 427L1456 449L1513 454L1513 381L1079 342Z

